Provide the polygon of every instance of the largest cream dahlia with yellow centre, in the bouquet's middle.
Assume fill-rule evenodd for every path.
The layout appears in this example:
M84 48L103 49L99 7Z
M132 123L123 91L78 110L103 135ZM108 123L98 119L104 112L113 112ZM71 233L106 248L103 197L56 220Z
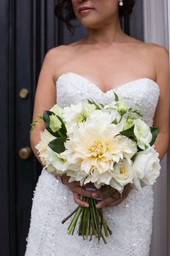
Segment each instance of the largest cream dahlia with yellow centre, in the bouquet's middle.
M130 157L136 152L134 145L128 145L128 137L115 136L119 132L120 124L110 124L108 119L103 119L102 114L98 115L98 119L88 119L74 127L71 140L66 140L66 150L61 153L66 159L63 171L69 169L75 180L94 182L98 187L109 184L113 176L113 164L120 161L123 155ZM131 148L128 149L128 146Z

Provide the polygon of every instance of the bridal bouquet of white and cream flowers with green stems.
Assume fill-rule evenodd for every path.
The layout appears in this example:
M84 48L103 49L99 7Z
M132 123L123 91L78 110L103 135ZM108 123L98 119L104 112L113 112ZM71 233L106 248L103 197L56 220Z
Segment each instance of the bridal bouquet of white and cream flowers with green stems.
M69 182L78 181L81 186L113 187L121 195L126 184L140 189L159 176L158 153L153 145L158 128L148 127L141 117L140 111L128 107L116 93L113 102L105 106L89 99L65 108L56 104L38 120L44 121L45 130L35 148L50 173L66 174ZM32 123L32 129L38 121ZM68 234L73 235L80 218L80 236L90 240L96 236L98 242L102 238L106 243L104 236L112 231L102 208L95 207L97 199L82 200L89 202L89 208L79 205L62 222L74 214Z

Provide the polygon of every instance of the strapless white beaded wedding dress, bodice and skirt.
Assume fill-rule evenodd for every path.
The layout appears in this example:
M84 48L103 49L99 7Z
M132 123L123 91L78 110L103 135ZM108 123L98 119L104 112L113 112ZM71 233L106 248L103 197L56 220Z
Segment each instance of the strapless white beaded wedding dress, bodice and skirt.
M61 107L86 98L104 104L115 99L112 90L103 93L97 85L73 72L58 77L56 89L56 100ZM159 96L156 82L141 78L115 88L115 93L125 98L129 106L138 108L143 120L153 125ZM140 191L132 189L120 205L103 208L113 231L107 244L102 240L98 244L95 237L89 242L76 232L73 236L67 234L71 219L64 224L61 221L76 207L68 187L43 168L34 192L25 256L148 256L153 221L152 186Z

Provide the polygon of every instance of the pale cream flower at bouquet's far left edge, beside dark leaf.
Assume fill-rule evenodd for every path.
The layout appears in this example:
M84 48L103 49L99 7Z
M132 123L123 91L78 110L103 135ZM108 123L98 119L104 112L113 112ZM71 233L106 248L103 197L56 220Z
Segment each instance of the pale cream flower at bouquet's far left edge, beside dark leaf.
M47 129L41 132L40 137L41 140L37 145L35 145L35 148L38 150L42 164L45 164L47 160L46 152L48 149L48 143L52 140L55 140L55 137L51 135Z

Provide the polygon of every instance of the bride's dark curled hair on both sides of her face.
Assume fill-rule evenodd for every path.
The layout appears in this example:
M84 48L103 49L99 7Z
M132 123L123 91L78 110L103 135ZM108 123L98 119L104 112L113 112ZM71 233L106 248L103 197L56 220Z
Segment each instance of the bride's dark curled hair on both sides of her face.
M133 12L134 4L135 0L124 0L123 6L119 9L120 17L130 15ZM58 4L55 6L55 16L61 19L68 27L68 30L73 33L74 27L71 21L75 20L76 16L73 12L71 0L58 0Z

